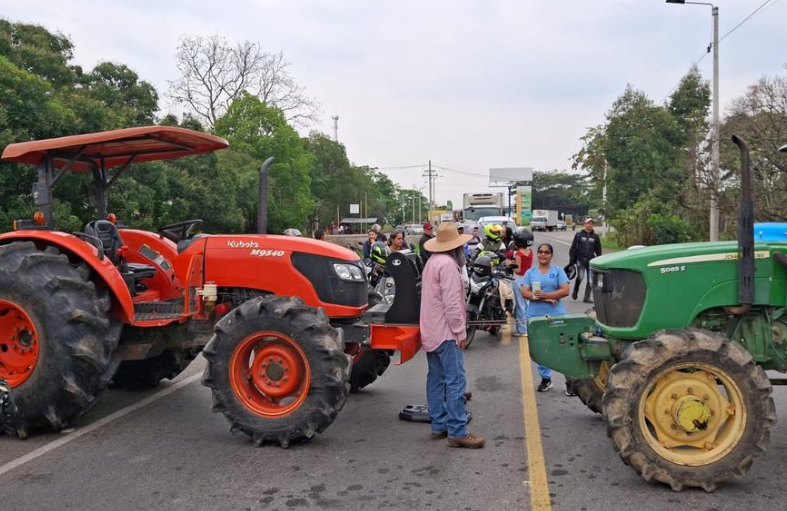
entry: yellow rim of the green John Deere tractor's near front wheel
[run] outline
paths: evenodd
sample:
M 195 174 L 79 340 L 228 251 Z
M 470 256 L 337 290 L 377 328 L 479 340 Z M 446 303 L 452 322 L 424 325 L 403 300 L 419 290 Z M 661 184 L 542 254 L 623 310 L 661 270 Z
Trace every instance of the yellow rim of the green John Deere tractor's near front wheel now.
M 662 458 L 690 467 L 714 463 L 746 431 L 746 404 L 722 369 L 703 363 L 673 366 L 658 374 L 639 403 L 639 426 Z

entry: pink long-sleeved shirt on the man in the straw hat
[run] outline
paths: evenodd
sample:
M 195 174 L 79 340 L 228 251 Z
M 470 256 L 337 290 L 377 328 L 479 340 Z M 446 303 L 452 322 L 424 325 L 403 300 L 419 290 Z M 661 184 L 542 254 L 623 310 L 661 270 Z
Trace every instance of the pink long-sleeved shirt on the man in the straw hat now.
M 426 262 L 421 279 L 421 347 L 434 351 L 443 342 L 464 340 L 465 285 L 454 260 L 435 253 Z

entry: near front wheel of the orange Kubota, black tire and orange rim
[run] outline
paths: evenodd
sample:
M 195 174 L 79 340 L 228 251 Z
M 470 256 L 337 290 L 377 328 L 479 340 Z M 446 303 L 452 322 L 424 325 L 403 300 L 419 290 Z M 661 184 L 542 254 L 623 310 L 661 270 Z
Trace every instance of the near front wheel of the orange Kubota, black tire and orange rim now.
M 322 433 L 350 391 L 350 357 L 341 330 L 299 298 L 249 300 L 218 322 L 203 350 L 202 383 L 231 432 L 255 446 L 282 447 Z M 264 371 L 263 371 L 264 369 Z M 285 395 L 274 395 L 292 387 Z

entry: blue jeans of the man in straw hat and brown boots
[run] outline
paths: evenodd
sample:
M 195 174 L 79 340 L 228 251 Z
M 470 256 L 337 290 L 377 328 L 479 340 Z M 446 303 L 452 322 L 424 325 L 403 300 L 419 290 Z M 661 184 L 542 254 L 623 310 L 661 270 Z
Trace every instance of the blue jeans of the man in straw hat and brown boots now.
M 432 433 L 448 430 L 451 438 L 467 435 L 465 411 L 465 355 L 456 341 L 445 341 L 426 353 L 426 403 L 432 419 Z

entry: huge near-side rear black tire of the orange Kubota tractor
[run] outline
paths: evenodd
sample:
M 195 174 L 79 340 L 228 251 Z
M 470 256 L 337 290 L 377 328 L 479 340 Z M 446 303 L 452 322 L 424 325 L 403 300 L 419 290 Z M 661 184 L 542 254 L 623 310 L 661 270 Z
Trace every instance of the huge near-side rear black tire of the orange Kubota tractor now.
M 38 350 L 32 372 L 12 391 L 13 429 L 21 438 L 41 427 L 66 427 L 98 402 L 118 367 L 122 325 L 110 318 L 109 292 L 96 289 L 89 276 L 87 265 L 71 263 L 54 247 L 0 246 L 0 300 L 6 314 L 15 304 L 11 311 L 27 315 L 35 332 L 25 334 L 26 349 Z M 6 377 L 4 354 L 22 346 L 8 337 L 0 339 L 0 376 Z

